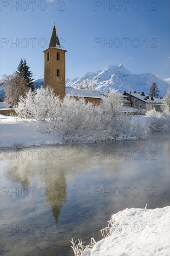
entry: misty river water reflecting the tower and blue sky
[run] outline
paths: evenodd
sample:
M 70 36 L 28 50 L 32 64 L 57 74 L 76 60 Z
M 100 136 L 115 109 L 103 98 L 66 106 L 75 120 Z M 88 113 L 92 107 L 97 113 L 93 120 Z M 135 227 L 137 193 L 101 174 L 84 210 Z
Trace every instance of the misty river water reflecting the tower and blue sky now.
M 2 150 L 0 254 L 70 256 L 70 240 L 100 240 L 111 214 L 169 205 L 169 141 L 155 133 L 142 141 Z

